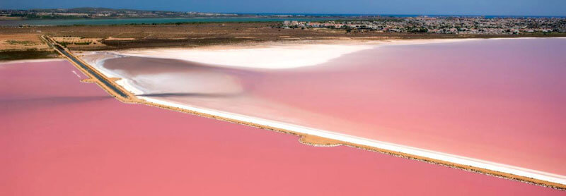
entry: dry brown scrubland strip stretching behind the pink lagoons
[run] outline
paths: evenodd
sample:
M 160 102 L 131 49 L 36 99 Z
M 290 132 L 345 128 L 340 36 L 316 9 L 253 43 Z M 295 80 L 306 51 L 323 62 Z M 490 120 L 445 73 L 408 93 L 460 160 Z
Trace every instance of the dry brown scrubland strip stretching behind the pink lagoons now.
M 76 25 L 0 27 L 2 35 L 48 35 L 74 50 L 151 47 L 200 47 L 217 44 L 301 40 L 449 39 L 488 37 L 562 37 L 566 34 L 446 35 L 396 32 L 349 32 L 330 29 L 282 29 L 279 23 L 187 23 L 182 25 Z M 40 33 L 38 33 L 40 32 Z M 30 37 L 33 38 L 33 37 Z M 33 38 L 37 40 L 36 38 Z M 91 44 L 86 44 L 91 42 Z M 79 43 L 79 44 L 76 44 Z M 96 43 L 96 44 L 94 44 Z

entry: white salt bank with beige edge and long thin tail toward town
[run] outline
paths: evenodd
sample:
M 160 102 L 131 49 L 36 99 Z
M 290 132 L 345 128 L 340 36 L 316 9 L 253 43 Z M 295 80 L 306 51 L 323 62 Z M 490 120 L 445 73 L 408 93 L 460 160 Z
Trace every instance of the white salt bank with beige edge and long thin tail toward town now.
M 141 49 L 117 51 L 116 53 L 127 56 L 179 59 L 218 66 L 281 69 L 316 66 L 345 54 L 383 45 L 433 44 L 472 40 L 477 39 L 392 39 L 386 41 L 335 39 L 213 46 L 196 49 Z

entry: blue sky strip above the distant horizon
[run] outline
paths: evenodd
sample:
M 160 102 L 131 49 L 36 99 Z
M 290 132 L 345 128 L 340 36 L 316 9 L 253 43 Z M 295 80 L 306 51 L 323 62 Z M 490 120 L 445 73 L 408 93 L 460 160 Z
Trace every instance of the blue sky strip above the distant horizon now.
M 566 0 L 0 0 L 0 8 L 134 8 L 222 13 L 566 16 Z

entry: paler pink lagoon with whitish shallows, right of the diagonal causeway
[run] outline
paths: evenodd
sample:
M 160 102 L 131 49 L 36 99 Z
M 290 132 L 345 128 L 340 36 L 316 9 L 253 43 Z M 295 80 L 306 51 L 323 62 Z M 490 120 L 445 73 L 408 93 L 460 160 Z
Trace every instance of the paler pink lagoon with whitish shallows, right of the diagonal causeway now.
M 566 39 L 483 39 L 275 71 L 142 57 L 104 68 L 168 102 L 566 175 L 565 53 Z

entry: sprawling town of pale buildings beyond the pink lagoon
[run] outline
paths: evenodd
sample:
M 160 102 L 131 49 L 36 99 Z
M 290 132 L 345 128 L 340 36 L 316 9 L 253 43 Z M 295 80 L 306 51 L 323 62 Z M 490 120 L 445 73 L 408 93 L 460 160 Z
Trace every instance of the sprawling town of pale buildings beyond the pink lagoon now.
M 566 18 L 407 17 L 325 22 L 284 21 L 283 28 L 331 28 L 347 31 L 428 32 L 445 34 L 521 34 L 566 32 Z

